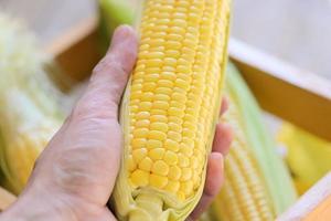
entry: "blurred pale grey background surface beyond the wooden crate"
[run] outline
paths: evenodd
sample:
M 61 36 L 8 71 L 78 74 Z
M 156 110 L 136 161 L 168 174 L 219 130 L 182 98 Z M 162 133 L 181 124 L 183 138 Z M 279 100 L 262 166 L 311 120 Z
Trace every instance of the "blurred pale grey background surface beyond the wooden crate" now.
M 233 0 L 232 34 L 299 67 L 331 78 L 330 0 Z M 43 44 L 96 10 L 95 0 L 0 0 Z

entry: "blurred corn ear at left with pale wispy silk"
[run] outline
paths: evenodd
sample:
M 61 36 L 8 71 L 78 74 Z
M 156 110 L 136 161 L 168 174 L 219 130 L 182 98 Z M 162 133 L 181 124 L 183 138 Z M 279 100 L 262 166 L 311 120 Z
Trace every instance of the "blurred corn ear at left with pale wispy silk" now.
M 33 36 L 0 15 L 0 165 L 3 183 L 20 193 L 34 161 L 64 118 L 58 91 Z M 56 95 L 57 94 L 57 95 Z

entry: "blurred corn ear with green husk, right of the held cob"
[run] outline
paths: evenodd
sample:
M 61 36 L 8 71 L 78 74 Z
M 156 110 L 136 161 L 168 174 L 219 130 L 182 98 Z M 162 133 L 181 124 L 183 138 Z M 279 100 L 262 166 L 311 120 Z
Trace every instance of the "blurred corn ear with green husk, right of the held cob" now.
M 296 199 L 289 172 L 233 65 L 228 65 L 226 94 L 231 106 L 223 120 L 234 128 L 235 139 L 225 161 L 225 183 L 203 220 L 275 220 Z

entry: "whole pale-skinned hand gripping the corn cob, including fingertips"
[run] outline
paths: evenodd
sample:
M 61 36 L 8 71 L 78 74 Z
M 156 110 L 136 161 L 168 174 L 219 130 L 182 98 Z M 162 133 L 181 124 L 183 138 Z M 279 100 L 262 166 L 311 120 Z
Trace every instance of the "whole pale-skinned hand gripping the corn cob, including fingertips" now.
M 94 69 L 89 85 L 38 159 L 18 201 L 0 215 L 15 221 L 113 221 L 107 208 L 122 151 L 118 106 L 137 59 L 137 36 L 127 25 Z M 222 110 L 227 103 L 223 102 Z M 232 131 L 216 127 L 203 196 L 188 220 L 196 220 L 220 191 Z

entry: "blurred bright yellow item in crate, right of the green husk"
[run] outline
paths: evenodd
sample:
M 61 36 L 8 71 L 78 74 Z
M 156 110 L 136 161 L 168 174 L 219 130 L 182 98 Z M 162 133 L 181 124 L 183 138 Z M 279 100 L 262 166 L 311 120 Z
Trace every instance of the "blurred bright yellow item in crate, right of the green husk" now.
M 331 143 L 286 123 L 278 131 L 296 188 L 305 193 L 331 171 Z

